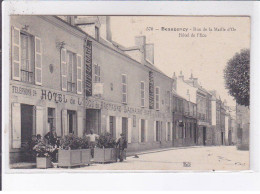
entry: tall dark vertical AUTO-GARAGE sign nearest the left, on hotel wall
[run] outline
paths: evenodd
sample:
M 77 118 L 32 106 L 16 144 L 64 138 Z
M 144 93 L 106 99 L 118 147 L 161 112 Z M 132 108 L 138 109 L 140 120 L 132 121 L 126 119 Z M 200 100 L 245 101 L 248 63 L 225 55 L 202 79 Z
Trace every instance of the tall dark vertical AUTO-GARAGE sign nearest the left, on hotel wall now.
M 86 41 L 86 96 L 92 96 L 92 41 Z

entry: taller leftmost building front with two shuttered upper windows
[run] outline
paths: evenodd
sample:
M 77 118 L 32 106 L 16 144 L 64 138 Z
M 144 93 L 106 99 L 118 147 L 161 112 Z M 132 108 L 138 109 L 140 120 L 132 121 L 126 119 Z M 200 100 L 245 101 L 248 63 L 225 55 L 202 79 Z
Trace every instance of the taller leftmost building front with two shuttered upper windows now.
M 12 163 L 32 135 L 83 135 L 85 35 L 52 16 L 11 16 L 11 32 Z

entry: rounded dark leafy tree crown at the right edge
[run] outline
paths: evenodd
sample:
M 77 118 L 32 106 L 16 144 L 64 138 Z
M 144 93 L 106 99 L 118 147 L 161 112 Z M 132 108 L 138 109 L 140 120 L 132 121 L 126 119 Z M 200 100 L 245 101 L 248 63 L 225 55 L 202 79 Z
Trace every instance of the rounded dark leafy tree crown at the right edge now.
M 242 49 L 231 58 L 224 69 L 225 87 L 240 105 L 250 102 L 250 50 Z

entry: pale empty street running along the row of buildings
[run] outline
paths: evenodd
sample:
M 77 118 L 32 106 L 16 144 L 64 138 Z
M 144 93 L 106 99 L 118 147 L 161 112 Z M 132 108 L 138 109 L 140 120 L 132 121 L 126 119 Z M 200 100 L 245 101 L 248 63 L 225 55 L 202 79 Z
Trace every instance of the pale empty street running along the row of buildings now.
M 184 164 L 185 162 L 185 164 Z M 91 164 L 80 170 L 247 170 L 249 151 L 235 146 L 193 147 L 127 157 L 122 163 Z

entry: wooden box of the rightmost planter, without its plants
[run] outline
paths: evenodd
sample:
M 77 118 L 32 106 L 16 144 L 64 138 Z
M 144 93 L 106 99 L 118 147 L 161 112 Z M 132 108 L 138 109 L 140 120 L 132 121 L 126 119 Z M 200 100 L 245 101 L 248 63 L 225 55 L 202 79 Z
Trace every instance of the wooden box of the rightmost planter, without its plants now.
M 117 162 L 117 149 L 116 148 L 95 148 L 94 161 L 100 163 Z

